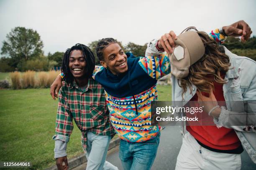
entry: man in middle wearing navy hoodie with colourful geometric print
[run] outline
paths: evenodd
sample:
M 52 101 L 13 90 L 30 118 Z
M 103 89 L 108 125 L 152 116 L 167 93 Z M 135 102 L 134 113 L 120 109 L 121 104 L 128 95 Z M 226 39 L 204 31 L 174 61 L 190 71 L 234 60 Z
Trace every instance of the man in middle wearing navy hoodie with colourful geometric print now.
M 241 29 L 248 29 L 248 25 L 241 24 Z M 226 28 L 234 33 L 238 25 Z M 224 36 L 218 31 L 213 31 L 210 36 L 221 42 Z M 160 43 L 167 42 L 170 45 L 166 51 L 171 53 L 174 47 L 172 39 L 161 40 Z M 154 48 L 159 47 L 154 45 Z M 160 126 L 151 125 L 151 101 L 157 100 L 157 80 L 170 73 L 169 58 L 164 55 L 135 57 L 131 53 L 125 54 L 113 38 L 98 42 L 96 52 L 102 67 L 96 67 L 92 77 L 105 89 L 110 121 L 121 138 L 119 157 L 123 168 L 149 170 L 156 157 L 161 130 Z M 61 78 L 57 77 L 52 84 L 53 98 L 60 82 Z

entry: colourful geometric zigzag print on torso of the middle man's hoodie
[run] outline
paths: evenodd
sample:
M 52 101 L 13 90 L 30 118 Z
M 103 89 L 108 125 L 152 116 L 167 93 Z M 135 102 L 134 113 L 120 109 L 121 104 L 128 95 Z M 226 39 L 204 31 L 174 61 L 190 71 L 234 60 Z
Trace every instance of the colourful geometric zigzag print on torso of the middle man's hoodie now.
M 161 130 L 160 126 L 151 126 L 151 101 L 157 99 L 156 85 L 132 96 L 113 97 L 105 91 L 110 112 L 110 121 L 117 135 L 128 142 L 143 142 L 154 138 Z

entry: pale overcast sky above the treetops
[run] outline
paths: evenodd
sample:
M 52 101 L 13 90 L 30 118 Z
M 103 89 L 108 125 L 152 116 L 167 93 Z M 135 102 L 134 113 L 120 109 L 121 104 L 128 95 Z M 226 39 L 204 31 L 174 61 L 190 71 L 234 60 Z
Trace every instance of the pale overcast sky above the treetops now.
M 0 0 L 0 48 L 12 28 L 36 30 L 44 53 L 113 37 L 143 45 L 195 26 L 209 32 L 245 20 L 256 35 L 256 0 Z

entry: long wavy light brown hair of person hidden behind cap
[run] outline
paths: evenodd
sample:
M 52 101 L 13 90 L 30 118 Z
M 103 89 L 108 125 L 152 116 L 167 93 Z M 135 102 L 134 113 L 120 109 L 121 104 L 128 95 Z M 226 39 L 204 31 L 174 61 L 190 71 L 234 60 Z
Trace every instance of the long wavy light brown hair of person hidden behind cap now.
M 211 88 L 214 90 L 213 82 L 224 84 L 225 80 L 221 74 L 225 74 L 230 67 L 230 59 L 225 55 L 223 47 L 211 40 L 206 32 L 198 31 L 197 33 L 205 45 L 205 54 L 189 67 L 187 77 L 178 79 L 179 86 L 182 88 L 182 98 L 187 92 L 187 87 L 192 93 L 192 84 L 199 92 L 206 93 L 210 93 Z

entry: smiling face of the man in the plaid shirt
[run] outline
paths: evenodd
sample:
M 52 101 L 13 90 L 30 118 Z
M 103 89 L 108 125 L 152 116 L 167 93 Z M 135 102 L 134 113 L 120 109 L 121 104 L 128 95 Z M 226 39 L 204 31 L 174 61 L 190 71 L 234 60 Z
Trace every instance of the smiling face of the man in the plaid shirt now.
M 69 70 L 75 79 L 84 77 L 86 62 L 81 50 L 73 50 L 69 57 Z

